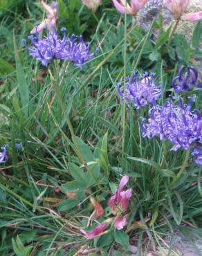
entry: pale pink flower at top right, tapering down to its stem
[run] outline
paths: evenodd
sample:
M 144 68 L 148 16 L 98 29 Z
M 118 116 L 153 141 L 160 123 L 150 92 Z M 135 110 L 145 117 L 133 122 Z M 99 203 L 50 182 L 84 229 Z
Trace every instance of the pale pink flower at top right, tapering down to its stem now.
M 166 6 L 176 19 L 180 18 L 185 12 L 190 0 L 166 0 Z

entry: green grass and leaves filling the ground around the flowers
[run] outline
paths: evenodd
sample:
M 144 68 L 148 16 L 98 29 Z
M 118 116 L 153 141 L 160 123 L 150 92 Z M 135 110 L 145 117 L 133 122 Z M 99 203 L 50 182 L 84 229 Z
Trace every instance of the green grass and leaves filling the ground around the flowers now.
M 68 2 L 64 1 L 65 6 Z M 136 237 L 140 255 L 142 244 L 145 250 L 147 245 L 162 245 L 163 236 L 178 226 L 183 230 L 184 223 L 201 232 L 201 168 L 190 158 L 185 172 L 171 186 L 185 152 L 169 152 L 168 143 L 142 138 L 140 111 L 127 109 L 116 90 L 116 82 L 134 68 L 140 73 L 149 69 L 156 72 L 164 91 L 161 104 L 166 92 L 170 93 L 177 67 L 191 64 L 192 59 L 171 60 L 161 53 L 162 59 L 148 60 L 153 51 L 163 51 L 167 40 L 159 39 L 162 43 L 154 50 L 155 43 L 149 40 L 152 30 L 144 33 L 131 27 L 130 17 L 125 25 L 126 17 L 122 17 L 117 27 L 119 15 L 107 1 L 95 13 L 100 23 L 88 30 L 88 19 L 94 19 L 91 12 L 79 1 L 75 6 L 70 2 L 72 9 L 60 14 L 59 28 L 68 15 L 80 10 L 76 19 L 86 26 L 75 28 L 71 21 L 68 31 L 84 33 L 94 49 L 100 46 L 98 56 L 83 69 L 55 62 L 56 72 L 53 66 L 42 68 L 28 56 L 21 39 L 42 19 L 33 3 L 23 6 L 17 1 L 1 19 L 1 58 L 6 67 L 0 68 L 0 143 L 9 145 L 9 161 L 1 164 L 0 172 L 0 254 L 75 255 L 81 246 L 86 248 L 80 228 L 86 228 L 93 212 L 89 196 L 105 209 L 98 221 L 107 219 L 107 201 L 123 174 L 130 176 L 128 187 L 133 189 L 127 235 Z M 200 102 L 199 91 L 199 109 Z M 15 143 L 22 143 L 22 149 L 17 151 Z M 75 199 L 70 198 L 72 190 Z M 116 242 L 122 244 L 118 250 L 127 247 L 112 228 L 88 245 L 110 255 Z

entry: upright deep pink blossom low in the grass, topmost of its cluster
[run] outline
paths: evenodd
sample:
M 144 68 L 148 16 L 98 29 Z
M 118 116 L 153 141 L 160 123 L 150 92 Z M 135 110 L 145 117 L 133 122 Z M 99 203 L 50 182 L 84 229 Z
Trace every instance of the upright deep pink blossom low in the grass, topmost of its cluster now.
M 123 189 L 125 188 L 125 185 L 128 183 L 128 181 L 129 176 L 123 176 L 118 186 L 118 190 L 116 191 L 116 194 L 111 196 L 111 199 L 109 199 L 108 205 L 114 212 L 116 211 L 115 205 L 118 205 L 118 207 L 122 208 L 122 210 L 127 211 L 129 199 L 132 195 L 132 190 L 131 188 L 125 191 Z

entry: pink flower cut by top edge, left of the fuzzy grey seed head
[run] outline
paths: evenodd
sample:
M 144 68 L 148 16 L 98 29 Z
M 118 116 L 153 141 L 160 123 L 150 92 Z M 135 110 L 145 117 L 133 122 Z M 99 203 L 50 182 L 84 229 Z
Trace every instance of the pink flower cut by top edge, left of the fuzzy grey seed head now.
M 138 10 L 143 8 L 145 3 L 148 0 L 130 0 L 130 3 L 127 3 L 125 6 L 125 1 L 127 0 L 112 0 L 114 6 L 120 13 L 127 13 L 128 15 L 136 15 Z

